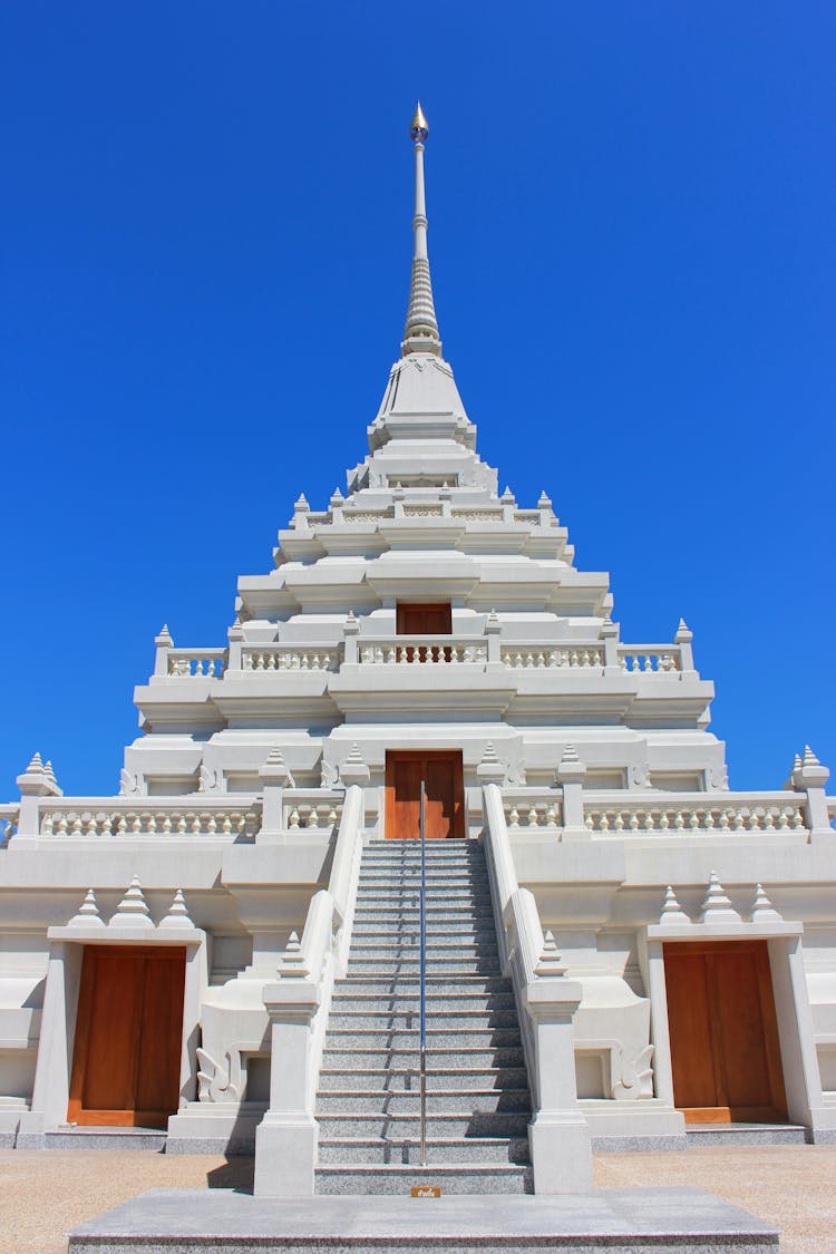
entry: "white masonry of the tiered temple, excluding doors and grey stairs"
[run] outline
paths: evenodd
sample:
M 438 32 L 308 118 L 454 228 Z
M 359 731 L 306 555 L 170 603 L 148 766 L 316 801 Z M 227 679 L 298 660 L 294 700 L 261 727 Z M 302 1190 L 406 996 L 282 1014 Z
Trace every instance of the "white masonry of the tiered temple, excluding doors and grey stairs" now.
M 836 1140 L 828 771 L 806 749 L 783 788 L 729 791 L 686 623 L 623 642 L 545 493 L 499 494 L 441 356 L 416 139 L 402 351 L 345 495 L 298 497 L 226 645 L 155 637 L 118 795 L 64 796 L 35 754 L 0 806 L 3 1145 L 66 1121 L 84 947 L 184 946 L 168 1151 L 254 1140 L 258 1193 L 310 1194 L 361 851 L 385 835 L 386 752 L 417 749 L 462 754 L 536 1191 L 585 1188 L 590 1137 L 683 1136 L 666 942 L 768 942 L 788 1117 Z M 399 635 L 399 602 L 449 603 L 451 635 Z

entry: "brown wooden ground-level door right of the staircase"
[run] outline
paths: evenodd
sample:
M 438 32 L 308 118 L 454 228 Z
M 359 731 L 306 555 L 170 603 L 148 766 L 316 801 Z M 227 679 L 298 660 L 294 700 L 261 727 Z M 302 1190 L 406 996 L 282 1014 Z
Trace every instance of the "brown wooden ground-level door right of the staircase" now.
M 787 1117 L 766 940 L 664 946 L 673 1100 L 687 1122 Z

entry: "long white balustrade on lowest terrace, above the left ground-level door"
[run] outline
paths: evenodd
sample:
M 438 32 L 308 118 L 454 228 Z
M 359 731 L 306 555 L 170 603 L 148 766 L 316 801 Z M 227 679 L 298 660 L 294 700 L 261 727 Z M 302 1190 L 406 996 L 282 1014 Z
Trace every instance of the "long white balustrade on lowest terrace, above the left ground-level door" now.
M 41 836 L 216 836 L 251 840 L 261 825 L 261 806 L 253 796 L 170 798 L 44 798 Z

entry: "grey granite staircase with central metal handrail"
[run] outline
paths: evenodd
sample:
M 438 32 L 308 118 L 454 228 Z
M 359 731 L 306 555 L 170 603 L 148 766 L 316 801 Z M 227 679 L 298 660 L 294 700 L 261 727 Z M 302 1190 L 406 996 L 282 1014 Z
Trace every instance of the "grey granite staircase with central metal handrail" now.
M 420 1166 L 420 845 L 363 850 L 316 1117 L 318 1194 L 530 1193 L 528 1073 L 473 840 L 426 846 L 426 1161 Z

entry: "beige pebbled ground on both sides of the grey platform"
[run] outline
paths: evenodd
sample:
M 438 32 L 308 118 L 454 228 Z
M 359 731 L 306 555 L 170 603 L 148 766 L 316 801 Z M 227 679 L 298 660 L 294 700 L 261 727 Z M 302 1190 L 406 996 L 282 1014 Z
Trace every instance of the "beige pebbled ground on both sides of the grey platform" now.
M 147 1189 L 247 1188 L 252 1159 L 0 1150 L 0 1254 L 65 1254 L 66 1233 Z M 836 1146 L 599 1154 L 604 1188 L 699 1185 L 782 1229 L 783 1254 L 836 1254 Z

